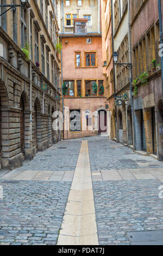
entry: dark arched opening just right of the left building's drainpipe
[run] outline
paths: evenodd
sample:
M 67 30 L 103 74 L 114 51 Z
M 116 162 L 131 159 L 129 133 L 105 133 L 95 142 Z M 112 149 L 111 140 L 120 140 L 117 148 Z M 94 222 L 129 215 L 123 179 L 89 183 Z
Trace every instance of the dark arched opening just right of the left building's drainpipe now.
M 35 151 L 39 150 L 38 143 L 41 138 L 41 104 L 40 100 L 36 98 L 34 105 L 34 147 Z

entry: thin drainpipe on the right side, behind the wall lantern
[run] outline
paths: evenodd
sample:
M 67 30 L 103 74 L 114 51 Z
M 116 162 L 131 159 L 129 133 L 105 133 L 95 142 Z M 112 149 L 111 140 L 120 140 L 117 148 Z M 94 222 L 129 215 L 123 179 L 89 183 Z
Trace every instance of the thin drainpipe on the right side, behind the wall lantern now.
M 112 36 L 112 54 L 114 53 L 114 31 L 113 31 L 113 13 L 112 13 L 112 0 L 111 0 L 111 36 Z M 115 79 L 115 65 L 113 64 L 113 78 L 114 78 L 114 95 L 116 94 L 116 79 Z M 115 106 L 115 125 L 116 125 L 116 142 L 118 143 L 117 132 L 117 106 Z

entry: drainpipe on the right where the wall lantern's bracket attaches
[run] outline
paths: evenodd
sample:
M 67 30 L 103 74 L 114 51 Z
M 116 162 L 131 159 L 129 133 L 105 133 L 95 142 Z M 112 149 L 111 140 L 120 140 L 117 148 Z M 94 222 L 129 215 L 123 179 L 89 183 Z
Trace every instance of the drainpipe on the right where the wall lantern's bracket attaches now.
M 128 0 L 128 45 L 129 45 L 129 63 L 132 63 L 131 59 L 131 32 L 130 32 L 130 0 Z M 132 90 L 132 83 L 133 83 L 133 74 L 132 70 L 129 70 L 129 78 L 130 78 L 130 99 L 131 99 L 131 114 L 133 119 L 133 147 L 134 151 L 136 150 L 136 129 L 135 129 L 135 113 L 134 113 L 134 105 L 133 105 L 133 90 Z

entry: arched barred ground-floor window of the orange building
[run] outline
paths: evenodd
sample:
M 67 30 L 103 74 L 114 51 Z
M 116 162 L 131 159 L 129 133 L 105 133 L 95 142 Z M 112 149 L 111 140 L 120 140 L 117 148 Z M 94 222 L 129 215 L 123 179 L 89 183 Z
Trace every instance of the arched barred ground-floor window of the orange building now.
M 80 109 L 70 110 L 70 131 L 81 131 Z

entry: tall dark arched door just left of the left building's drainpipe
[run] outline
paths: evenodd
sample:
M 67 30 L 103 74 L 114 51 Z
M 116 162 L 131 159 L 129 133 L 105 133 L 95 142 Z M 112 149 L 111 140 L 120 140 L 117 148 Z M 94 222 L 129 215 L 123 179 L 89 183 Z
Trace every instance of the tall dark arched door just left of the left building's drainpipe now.
M 21 97 L 20 100 L 20 139 L 21 139 L 21 153 L 24 155 L 24 103 Z

